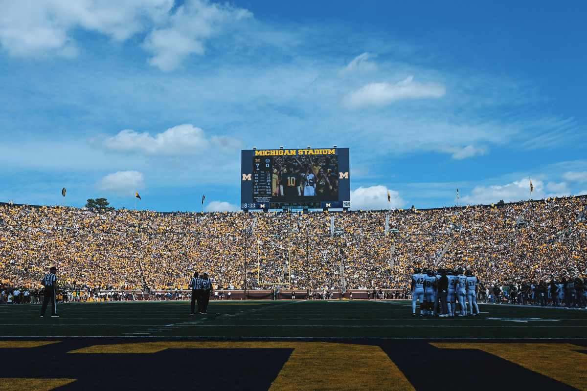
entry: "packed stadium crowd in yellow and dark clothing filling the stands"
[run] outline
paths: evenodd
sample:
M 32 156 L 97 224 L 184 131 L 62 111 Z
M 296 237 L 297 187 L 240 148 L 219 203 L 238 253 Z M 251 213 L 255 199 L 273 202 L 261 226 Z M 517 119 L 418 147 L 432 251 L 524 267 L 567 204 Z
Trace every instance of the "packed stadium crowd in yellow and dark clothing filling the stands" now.
M 186 289 L 194 270 L 231 289 L 244 287 L 246 270 L 249 290 L 405 289 L 414 267 L 469 268 L 488 288 L 538 286 L 587 274 L 585 215 L 586 196 L 334 213 L 0 204 L 0 291 L 4 301 L 15 289 L 34 301 L 50 266 L 66 290 L 88 297 Z

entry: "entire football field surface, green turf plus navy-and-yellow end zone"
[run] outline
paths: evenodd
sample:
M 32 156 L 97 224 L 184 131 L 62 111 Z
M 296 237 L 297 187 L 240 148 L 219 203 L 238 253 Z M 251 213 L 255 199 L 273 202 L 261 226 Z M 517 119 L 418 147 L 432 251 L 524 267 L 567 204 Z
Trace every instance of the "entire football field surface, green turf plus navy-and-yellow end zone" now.
M 2 390 L 587 390 L 587 310 L 411 301 L 97 302 L 0 306 Z M 220 312 L 220 315 L 216 315 Z M 50 311 L 49 311 L 50 313 Z M 448 374 L 448 375 L 443 375 Z

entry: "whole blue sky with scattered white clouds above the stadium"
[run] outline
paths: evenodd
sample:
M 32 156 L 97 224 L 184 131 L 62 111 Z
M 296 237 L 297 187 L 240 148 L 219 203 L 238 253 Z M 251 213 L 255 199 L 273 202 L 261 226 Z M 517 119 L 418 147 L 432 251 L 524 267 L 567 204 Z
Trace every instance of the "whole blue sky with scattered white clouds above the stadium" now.
M 352 209 L 587 193 L 587 3 L 0 0 L 0 201 L 238 210 L 350 148 Z

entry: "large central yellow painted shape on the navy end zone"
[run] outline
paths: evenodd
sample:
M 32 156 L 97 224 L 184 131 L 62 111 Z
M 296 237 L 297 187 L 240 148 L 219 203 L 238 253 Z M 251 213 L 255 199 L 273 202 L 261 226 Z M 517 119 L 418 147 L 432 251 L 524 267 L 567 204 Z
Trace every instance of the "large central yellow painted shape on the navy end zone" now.
M 329 342 L 143 342 L 94 345 L 69 353 L 156 353 L 165 349 L 294 349 L 270 390 L 414 391 L 379 346 Z M 329 365 L 316 365 L 326 362 Z M 360 363 L 361 365 L 357 365 Z M 367 363 L 367 365 L 364 365 Z

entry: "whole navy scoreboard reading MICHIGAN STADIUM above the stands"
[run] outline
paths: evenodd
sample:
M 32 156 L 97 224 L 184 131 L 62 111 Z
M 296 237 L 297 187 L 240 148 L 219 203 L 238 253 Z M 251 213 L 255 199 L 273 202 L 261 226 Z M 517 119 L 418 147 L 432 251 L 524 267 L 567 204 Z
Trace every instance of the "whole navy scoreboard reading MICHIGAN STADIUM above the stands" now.
M 241 209 L 347 209 L 349 180 L 349 148 L 241 151 Z

